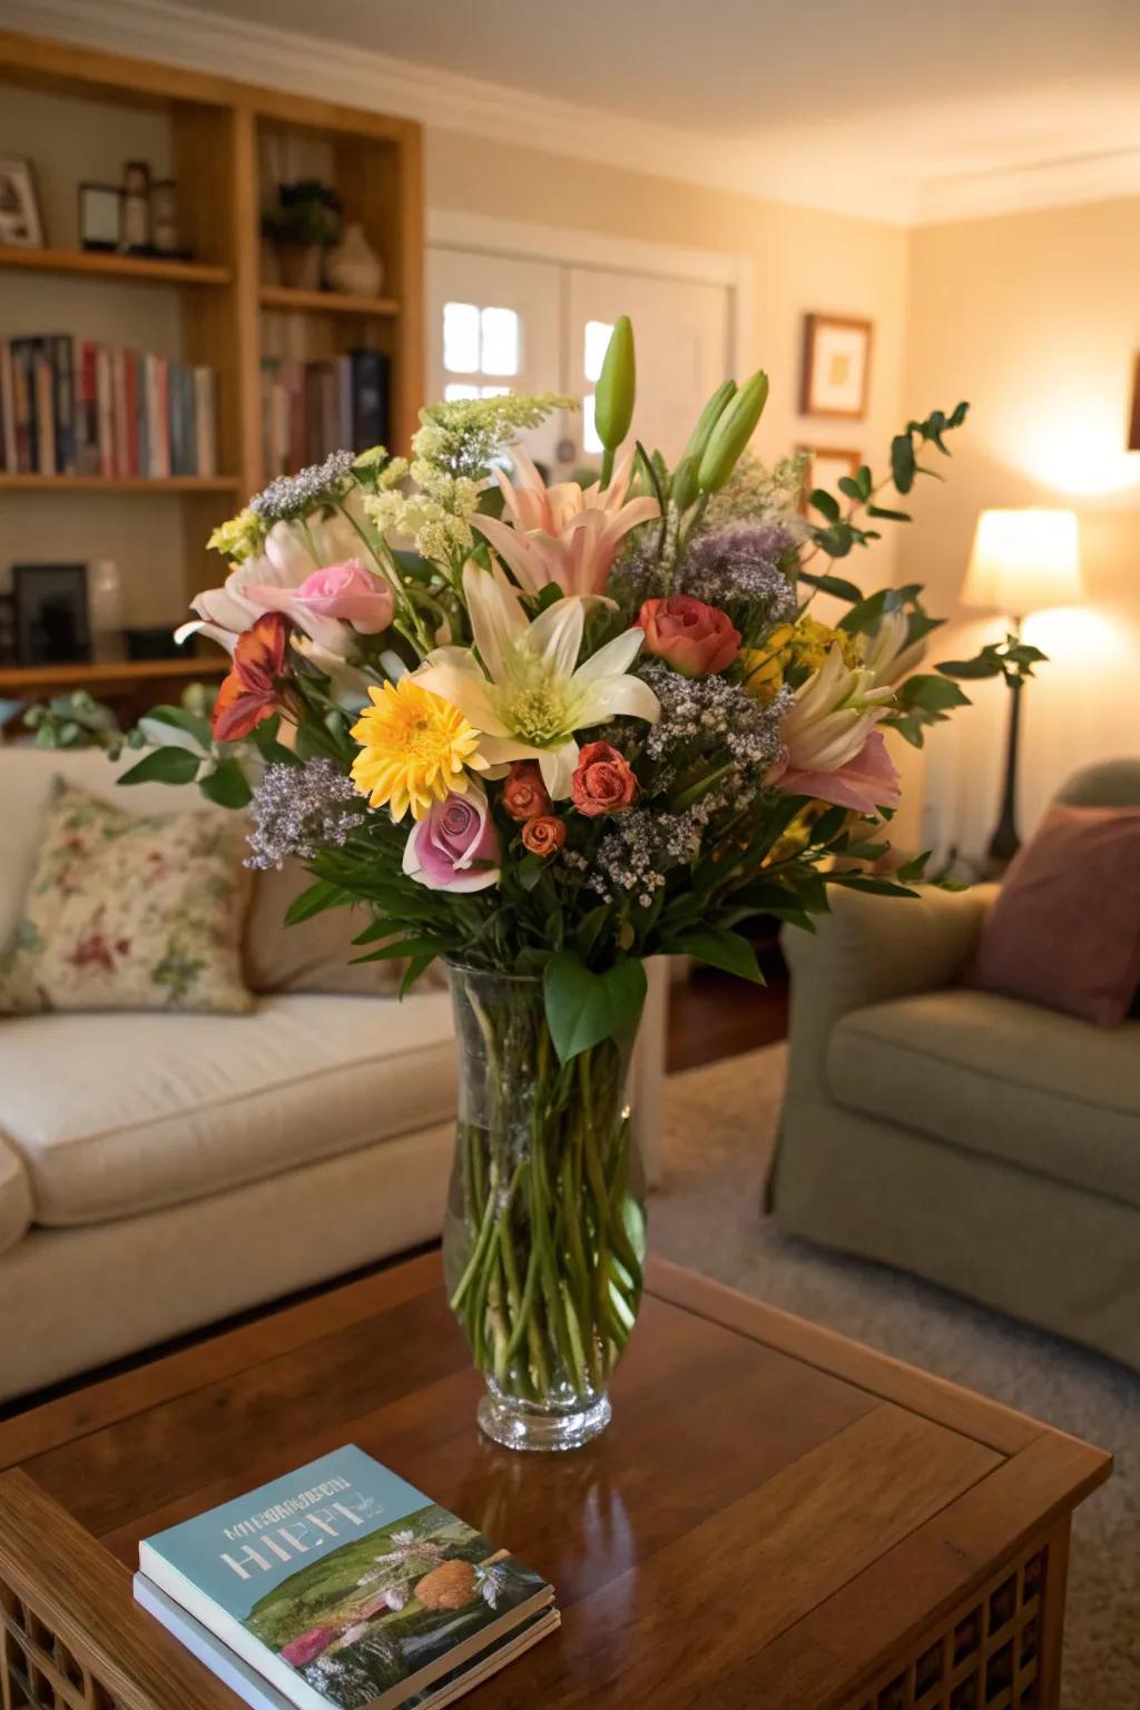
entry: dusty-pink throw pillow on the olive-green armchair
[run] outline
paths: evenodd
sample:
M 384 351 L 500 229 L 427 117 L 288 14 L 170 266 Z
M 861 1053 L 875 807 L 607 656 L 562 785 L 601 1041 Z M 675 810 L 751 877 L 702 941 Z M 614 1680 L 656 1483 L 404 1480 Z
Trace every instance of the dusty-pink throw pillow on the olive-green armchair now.
M 1140 807 L 1056 804 L 1012 862 L 973 983 L 1118 1028 L 1140 983 Z

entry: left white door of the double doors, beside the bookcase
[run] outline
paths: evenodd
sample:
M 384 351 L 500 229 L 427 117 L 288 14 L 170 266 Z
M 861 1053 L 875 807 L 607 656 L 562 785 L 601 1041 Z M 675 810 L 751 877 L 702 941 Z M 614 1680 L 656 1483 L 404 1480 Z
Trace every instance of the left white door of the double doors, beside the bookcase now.
M 427 251 L 427 397 L 562 392 L 562 274 L 468 250 Z M 523 436 L 532 457 L 555 460 L 561 416 Z

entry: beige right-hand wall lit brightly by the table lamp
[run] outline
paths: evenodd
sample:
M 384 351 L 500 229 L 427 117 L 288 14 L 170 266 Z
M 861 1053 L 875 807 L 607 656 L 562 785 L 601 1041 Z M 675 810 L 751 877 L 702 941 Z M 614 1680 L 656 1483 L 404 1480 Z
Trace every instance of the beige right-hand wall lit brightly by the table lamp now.
M 1077 766 L 1140 752 L 1140 455 L 1125 451 L 1140 347 L 1140 200 L 1049 209 L 911 233 L 908 410 L 971 400 L 950 479 L 921 494 L 899 571 L 949 610 L 984 506 L 1080 516 L 1087 604 L 1031 619 L 1051 655 L 1025 701 L 1022 831 Z M 966 614 L 964 614 L 966 616 Z M 969 614 L 952 657 L 993 624 Z M 973 648 L 971 648 L 973 650 Z M 984 845 L 995 816 L 1005 694 L 935 732 L 926 838 Z

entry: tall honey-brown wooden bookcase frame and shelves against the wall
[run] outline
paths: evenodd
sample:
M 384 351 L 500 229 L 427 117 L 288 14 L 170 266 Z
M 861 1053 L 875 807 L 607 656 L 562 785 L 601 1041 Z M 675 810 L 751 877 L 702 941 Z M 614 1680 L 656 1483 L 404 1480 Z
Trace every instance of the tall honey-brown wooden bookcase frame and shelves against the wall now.
M 0 31 L 0 99 L 5 86 L 84 101 L 91 106 L 92 127 L 99 125 L 99 106 L 161 115 L 169 133 L 171 176 L 178 181 L 179 238 L 193 260 L 85 251 L 73 243 L 68 248 L 58 241 L 65 234 L 50 224 L 48 236 L 56 238 L 50 248 L 0 246 L 0 279 L 12 289 L 14 280 L 26 275 L 29 291 L 36 289 L 38 274 L 65 280 L 65 286 L 53 289 L 73 289 L 72 323 L 62 321 L 55 308 L 58 299 L 53 299 L 53 325 L 36 330 L 67 330 L 77 337 L 89 337 L 84 328 L 84 301 L 92 299 L 84 298 L 85 291 L 101 287 L 103 301 L 108 287 L 120 284 L 173 292 L 179 349 L 166 354 L 191 366 L 209 364 L 217 371 L 217 458 L 227 474 L 161 481 L 0 474 L 0 503 L 17 506 L 31 504 L 31 496 L 58 496 L 62 506 L 80 506 L 84 496 L 99 494 L 111 494 L 123 504 L 133 504 L 137 498 L 162 498 L 171 506 L 169 532 L 181 545 L 188 597 L 219 580 L 222 564 L 215 554 L 205 552 L 210 530 L 263 486 L 261 354 L 268 354 L 270 340 L 280 337 L 280 328 L 292 328 L 289 337 L 299 342 L 294 347 L 306 359 L 362 344 L 385 351 L 391 363 L 393 446 L 405 450 L 415 431 L 424 402 L 420 127 L 383 113 L 12 31 Z M 261 161 L 270 140 L 323 150 L 330 180 L 344 203 L 344 217 L 359 221 L 369 243 L 383 256 L 385 284 L 391 296 L 291 291 L 263 275 Z M 38 137 L 31 132 L 27 152 L 32 159 L 36 142 Z M 161 298 L 154 301 L 156 306 L 162 303 Z M 121 342 L 132 340 L 125 337 Z M 101 516 L 103 510 L 92 508 L 87 528 L 91 540 L 84 552 L 92 559 L 103 551 L 118 557 L 115 545 L 101 545 Z M 111 523 L 106 527 L 111 528 Z M 44 537 L 39 513 L 36 528 L 39 540 Z M 46 535 L 38 557 L 63 551 L 50 542 L 50 518 Z M 113 542 L 115 535 L 109 539 Z M 9 551 L 5 556 L 10 559 L 14 554 Z M 142 576 L 147 569 L 147 563 L 135 566 L 121 559 L 126 587 L 132 575 Z M 68 679 L 72 686 L 103 681 L 96 667 L 67 669 L 77 672 L 75 679 Z M 179 669 L 188 675 L 195 670 L 209 674 L 202 660 L 128 662 L 116 667 L 115 681 L 176 677 Z M 43 687 L 43 672 L 34 681 Z M 27 691 L 31 679 L 19 672 L 0 672 L 0 686 L 24 686 Z

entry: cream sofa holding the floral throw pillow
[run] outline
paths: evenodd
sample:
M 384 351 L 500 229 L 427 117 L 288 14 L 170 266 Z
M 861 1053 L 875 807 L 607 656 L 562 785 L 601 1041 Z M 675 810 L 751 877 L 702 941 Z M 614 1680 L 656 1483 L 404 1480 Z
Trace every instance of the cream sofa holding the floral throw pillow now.
M 99 754 L 0 747 L 0 942 L 55 773 L 115 792 Z M 651 1175 L 665 990 L 651 970 L 634 1067 Z M 0 1017 L 0 1400 L 434 1240 L 455 1077 L 446 990 Z

